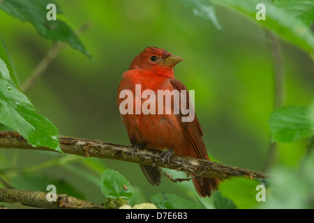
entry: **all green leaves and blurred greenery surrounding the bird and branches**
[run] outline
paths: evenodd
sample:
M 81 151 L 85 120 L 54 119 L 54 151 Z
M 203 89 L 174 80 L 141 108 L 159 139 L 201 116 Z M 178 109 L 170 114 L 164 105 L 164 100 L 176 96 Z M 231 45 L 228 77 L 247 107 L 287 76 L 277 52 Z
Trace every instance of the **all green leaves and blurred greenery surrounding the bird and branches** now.
M 107 197 L 120 193 L 106 187 L 111 184 L 103 171 L 113 169 L 111 174 L 120 174 L 113 174 L 112 182 L 127 185 L 122 192 L 131 196 L 130 205 L 313 208 L 314 1 L 59 0 L 49 1 L 57 3 L 52 23 L 45 20 L 47 2 L 0 1 L 0 130 L 16 130 L 34 146 L 57 150 L 58 131 L 129 144 L 116 104 L 121 74 L 144 47 L 162 47 L 184 58 L 175 75 L 195 89 L 212 160 L 263 171 L 271 138 L 278 142 L 270 170 L 276 177 L 266 182 L 267 202 L 257 203 L 254 185 L 261 182 L 248 179 L 226 180 L 211 199 L 200 199 L 192 183 L 163 179 L 160 187 L 151 186 L 137 164 L 0 149 L 0 178 L 6 183 L 41 191 L 54 184 L 60 194 L 103 203 L 102 192 Z M 267 20 L 258 22 L 255 6 L 261 2 Z M 87 23 L 78 38 L 73 30 Z M 281 38 L 285 105 L 290 105 L 275 112 L 274 63 L 265 27 Z M 20 85 L 50 50 L 50 40 L 77 50 L 59 52 L 25 96 Z M 6 187 L 2 181 L 0 187 Z

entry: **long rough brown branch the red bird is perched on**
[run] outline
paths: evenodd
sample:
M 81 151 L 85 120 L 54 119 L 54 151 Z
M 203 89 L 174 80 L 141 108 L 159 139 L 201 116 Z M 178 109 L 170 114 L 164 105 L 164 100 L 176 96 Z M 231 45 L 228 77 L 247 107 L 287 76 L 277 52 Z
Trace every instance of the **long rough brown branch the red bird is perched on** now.
M 98 157 L 114 160 L 123 160 L 126 162 L 135 162 L 138 164 L 149 165 L 153 167 L 164 167 L 184 171 L 188 174 L 204 176 L 207 178 L 230 178 L 232 176 L 245 176 L 248 178 L 267 178 L 267 174 L 232 167 L 209 160 L 201 160 L 183 155 L 172 155 L 170 162 L 163 165 L 162 151 L 142 148 L 135 151 L 132 155 L 130 146 L 112 144 L 105 141 L 79 139 L 74 137 L 59 137 L 61 150 L 63 153 L 80 155 L 84 157 Z M 53 151 L 50 148 L 37 147 L 29 145 L 23 137 L 17 132 L 0 132 L 0 148 L 20 148 L 40 151 Z

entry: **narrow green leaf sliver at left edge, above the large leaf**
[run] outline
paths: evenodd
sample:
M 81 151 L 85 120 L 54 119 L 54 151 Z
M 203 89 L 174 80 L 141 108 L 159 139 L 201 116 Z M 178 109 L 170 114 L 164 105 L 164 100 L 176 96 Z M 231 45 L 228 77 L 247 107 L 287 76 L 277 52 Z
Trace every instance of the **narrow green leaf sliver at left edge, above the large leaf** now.
M 12 79 L 17 89 L 20 90 L 20 86 L 17 84 L 17 79 L 14 75 L 13 69 L 10 64 L 10 60 L 8 59 L 8 55 L 6 54 L 6 50 L 3 48 L 0 41 L 0 78 L 9 82 Z

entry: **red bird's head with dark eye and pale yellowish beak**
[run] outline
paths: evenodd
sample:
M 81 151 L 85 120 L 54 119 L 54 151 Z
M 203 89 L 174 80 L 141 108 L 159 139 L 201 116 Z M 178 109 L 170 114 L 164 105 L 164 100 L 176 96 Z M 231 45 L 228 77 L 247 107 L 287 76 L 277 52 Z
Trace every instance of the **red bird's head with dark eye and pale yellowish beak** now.
M 149 70 L 156 75 L 174 77 L 173 68 L 183 59 L 157 47 L 147 47 L 135 56 L 129 70 Z

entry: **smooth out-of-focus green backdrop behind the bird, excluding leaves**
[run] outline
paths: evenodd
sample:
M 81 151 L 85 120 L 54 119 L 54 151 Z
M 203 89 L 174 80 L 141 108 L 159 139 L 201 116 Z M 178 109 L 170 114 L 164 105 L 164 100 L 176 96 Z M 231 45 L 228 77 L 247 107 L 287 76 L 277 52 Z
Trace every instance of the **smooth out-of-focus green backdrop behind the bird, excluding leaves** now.
M 73 29 L 90 24 L 80 38 L 93 57 L 91 61 L 67 47 L 26 93 L 40 114 L 59 128 L 61 135 L 130 144 L 119 116 L 117 87 L 122 73 L 144 47 L 160 47 L 184 58 L 176 66 L 175 76 L 188 89 L 195 90 L 195 109 L 209 157 L 262 171 L 269 148 L 267 121 L 274 109 L 274 75 L 271 52 L 257 22 L 216 6 L 223 27 L 220 32 L 176 0 L 57 2 L 64 12 L 57 19 Z M 3 11 L 0 11 L 0 27 L 1 40 L 22 84 L 52 43 L 38 36 L 31 24 Z M 286 75 L 285 104 L 306 107 L 314 98 L 313 61 L 297 47 L 285 42 L 281 45 Z M 307 143 L 301 140 L 280 144 L 276 162 L 296 167 Z M 100 187 L 79 173 L 63 168 L 62 164 L 40 167 L 43 162 L 64 159 L 62 155 L 0 149 L 0 156 L 13 169 L 37 165 L 38 171 L 32 173 L 63 179 L 89 201 L 103 202 Z M 87 160 L 94 160 L 94 166 L 100 169 L 109 167 L 119 171 L 144 192 L 147 201 L 159 192 L 186 197 L 184 190 L 178 190 L 178 184 L 166 178 L 160 187 L 150 185 L 137 164 L 80 158 L 75 162 L 77 171 L 89 171 L 79 164 Z

